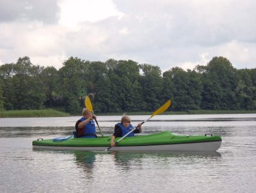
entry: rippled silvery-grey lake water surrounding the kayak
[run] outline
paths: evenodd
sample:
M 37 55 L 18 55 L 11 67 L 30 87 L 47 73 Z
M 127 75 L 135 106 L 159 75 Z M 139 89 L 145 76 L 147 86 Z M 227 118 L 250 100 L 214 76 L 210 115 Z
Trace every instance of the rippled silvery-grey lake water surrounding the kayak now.
M 37 138 L 72 134 L 78 118 L 0 118 L 0 192 L 256 192 L 256 114 L 157 115 L 143 125 L 143 134 L 222 136 L 208 154 L 32 149 Z M 103 133 L 120 118 L 98 116 Z

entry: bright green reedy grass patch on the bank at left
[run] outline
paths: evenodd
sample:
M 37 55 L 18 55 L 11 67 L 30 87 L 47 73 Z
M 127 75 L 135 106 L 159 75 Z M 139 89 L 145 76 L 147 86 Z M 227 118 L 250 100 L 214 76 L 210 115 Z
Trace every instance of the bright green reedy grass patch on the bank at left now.
M 0 111 L 0 118 L 14 117 L 59 117 L 70 116 L 69 113 L 63 113 L 54 109 L 41 110 L 19 110 L 19 111 Z

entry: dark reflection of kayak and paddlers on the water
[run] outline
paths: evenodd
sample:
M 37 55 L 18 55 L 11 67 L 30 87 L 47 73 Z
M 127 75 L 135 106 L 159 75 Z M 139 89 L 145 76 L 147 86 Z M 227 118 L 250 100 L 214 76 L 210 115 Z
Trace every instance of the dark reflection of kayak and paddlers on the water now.
M 101 152 L 101 151 L 58 151 L 33 149 L 44 156 L 52 154 L 74 155 L 74 163 L 82 169 L 86 178 L 92 178 L 94 167 L 104 165 L 109 169 L 115 167 L 120 170 L 144 169 L 145 165 L 191 164 L 220 158 L 219 152 Z M 184 162 L 185 161 L 185 162 Z

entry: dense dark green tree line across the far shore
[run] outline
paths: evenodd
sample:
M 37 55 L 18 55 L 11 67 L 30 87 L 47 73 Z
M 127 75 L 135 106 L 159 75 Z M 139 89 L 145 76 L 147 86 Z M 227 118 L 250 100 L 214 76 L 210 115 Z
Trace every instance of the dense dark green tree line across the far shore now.
M 213 57 L 193 70 L 133 60 L 106 62 L 70 57 L 60 69 L 34 65 L 29 57 L 0 66 L 0 109 L 53 107 L 81 113 L 89 95 L 97 113 L 155 111 L 171 98 L 169 111 L 255 110 L 256 68 L 235 69 Z

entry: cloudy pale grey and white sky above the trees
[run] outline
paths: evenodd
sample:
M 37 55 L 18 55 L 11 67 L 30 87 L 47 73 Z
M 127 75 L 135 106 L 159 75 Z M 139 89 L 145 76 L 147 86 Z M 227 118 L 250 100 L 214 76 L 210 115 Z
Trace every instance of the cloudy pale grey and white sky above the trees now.
M 256 68 L 256 0 L 1 0 L 0 65 L 69 57 L 193 69 L 226 57 Z

